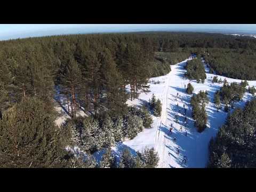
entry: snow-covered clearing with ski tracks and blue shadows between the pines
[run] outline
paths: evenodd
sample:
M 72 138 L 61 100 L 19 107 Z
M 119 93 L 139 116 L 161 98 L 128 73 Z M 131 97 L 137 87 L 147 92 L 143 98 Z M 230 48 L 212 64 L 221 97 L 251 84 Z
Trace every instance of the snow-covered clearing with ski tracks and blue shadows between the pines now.
M 197 58 L 198 59 L 198 58 Z M 188 60 L 188 59 L 187 59 Z M 153 127 L 151 129 L 144 129 L 137 137 L 132 140 L 124 142 L 118 142 L 113 150 L 116 154 L 120 154 L 121 151 L 127 147 L 134 154 L 135 151 L 143 151 L 143 149 L 154 147 L 159 156 L 158 167 L 205 167 L 208 161 L 208 145 L 212 137 L 218 132 L 219 127 L 225 123 L 227 113 L 223 110 L 217 112 L 217 108 L 213 103 L 214 93 L 219 90 L 223 84 L 212 83 L 212 77 L 214 74 L 209 74 L 209 69 L 205 65 L 206 76 L 204 84 L 196 83 L 196 81 L 189 81 L 183 79 L 183 73 L 186 71 L 183 69 L 186 61 L 177 63 L 177 65 L 171 66 L 171 72 L 165 76 L 151 78 L 150 81 L 160 81 L 160 84 L 150 84 L 150 92 L 141 93 L 138 99 L 133 101 L 128 100 L 129 105 L 141 106 L 144 102 L 147 102 L 154 93 L 156 98 L 161 99 L 162 102 L 162 115 L 161 117 L 154 117 Z M 203 61 L 204 62 L 204 61 Z M 218 78 L 225 79 L 223 76 Z M 228 83 L 238 82 L 239 79 L 226 78 Z M 194 120 L 191 118 L 190 97 L 185 90 L 185 85 L 191 83 L 194 87 L 193 93 L 198 93 L 200 90 L 207 90 L 209 93 L 210 102 L 206 106 L 206 113 L 208 116 L 207 128 L 198 133 L 196 127 L 194 127 Z M 248 81 L 249 86 L 256 86 L 256 81 Z M 175 101 L 175 96 L 179 93 L 181 99 Z M 247 100 L 250 100 L 252 95 L 245 93 L 243 101 L 237 102 L 235 107 L 243 107 Z M 180 113 L 177 109 L 177 103 L 181 109 Z M 183 104 L 185 104 L 188 116 L 187 136 L 185 135 L 185 128 L 180 130 L 181 124 L 183 125 Z M 223 109 L 223 106 L 222 106 Z M 174 122 L 175 114 L 178 115 L 179 122 Z M 170 125 L 173 123 L 174 129 L 170 134 Z M 173 139 L 177 140 L 174 142 Z M 180 153 L 177 153 L 179 148 Z M 95 156 L 98 156 L 96 153 Z M 186 159 L 186 163 L 182 160 Z

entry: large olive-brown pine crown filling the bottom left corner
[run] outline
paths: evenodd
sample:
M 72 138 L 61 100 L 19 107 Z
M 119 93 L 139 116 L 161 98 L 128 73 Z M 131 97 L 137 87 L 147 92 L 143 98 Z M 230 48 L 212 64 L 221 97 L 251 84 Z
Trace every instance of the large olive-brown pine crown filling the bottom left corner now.
M 2 167 L 61 167 L 65 151 L 62 135 L 36 98 L 23 98 L 5 111 L 0 120 L 0 164 Z

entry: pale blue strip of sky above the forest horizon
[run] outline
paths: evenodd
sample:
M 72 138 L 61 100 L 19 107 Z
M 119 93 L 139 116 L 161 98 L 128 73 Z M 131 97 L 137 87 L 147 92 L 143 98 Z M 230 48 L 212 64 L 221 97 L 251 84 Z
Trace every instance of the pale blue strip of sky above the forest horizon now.
M 0 40 L 62 34 L 158 30 L 256 34 L 256 24 L 0 24 Z

